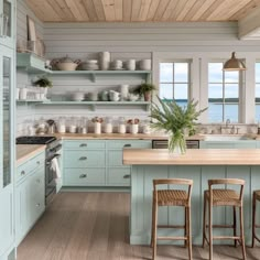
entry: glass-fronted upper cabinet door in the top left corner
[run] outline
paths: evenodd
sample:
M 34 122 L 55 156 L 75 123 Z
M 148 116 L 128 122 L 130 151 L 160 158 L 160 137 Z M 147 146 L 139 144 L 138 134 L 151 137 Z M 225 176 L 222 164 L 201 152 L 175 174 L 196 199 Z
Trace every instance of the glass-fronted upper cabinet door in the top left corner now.
M 0 44 L 14 48 L 15 0 L 0 2 Z

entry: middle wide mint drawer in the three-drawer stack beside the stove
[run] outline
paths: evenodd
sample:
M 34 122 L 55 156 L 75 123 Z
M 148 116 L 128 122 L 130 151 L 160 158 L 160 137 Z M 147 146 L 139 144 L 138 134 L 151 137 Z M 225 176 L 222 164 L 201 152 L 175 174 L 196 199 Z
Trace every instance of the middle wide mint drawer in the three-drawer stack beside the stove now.
M 65 167 L 97 167 L 105 166 L 105 151 L 66 151 Z

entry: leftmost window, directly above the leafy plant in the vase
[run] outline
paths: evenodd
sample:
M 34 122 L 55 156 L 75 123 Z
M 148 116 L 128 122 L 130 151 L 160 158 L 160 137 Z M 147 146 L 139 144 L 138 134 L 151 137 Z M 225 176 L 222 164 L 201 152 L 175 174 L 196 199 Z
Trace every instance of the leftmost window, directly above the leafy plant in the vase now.
M 191 86 L 188 62 L 160 63 L 160 98 L 185 106 Z

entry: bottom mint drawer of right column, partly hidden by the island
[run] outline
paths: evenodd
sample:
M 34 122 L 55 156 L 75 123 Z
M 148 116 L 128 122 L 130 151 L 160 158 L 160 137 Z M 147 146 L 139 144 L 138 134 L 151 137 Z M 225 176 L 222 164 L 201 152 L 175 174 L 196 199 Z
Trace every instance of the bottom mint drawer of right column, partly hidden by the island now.
M 109 167 L 108 184 L 117 186 L 130 186 L 131 169 L 126 167 Z

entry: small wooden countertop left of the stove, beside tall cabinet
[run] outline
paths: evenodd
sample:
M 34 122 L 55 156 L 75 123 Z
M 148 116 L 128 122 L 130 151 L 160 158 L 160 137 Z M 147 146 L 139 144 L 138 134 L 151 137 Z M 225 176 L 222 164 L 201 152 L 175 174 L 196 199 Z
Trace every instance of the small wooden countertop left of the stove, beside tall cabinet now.
M 17 144 L 17 165 L 44 151 L 44 144 Z

